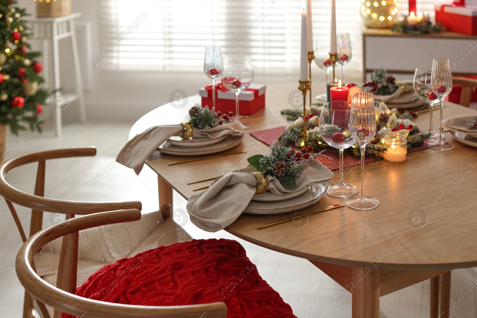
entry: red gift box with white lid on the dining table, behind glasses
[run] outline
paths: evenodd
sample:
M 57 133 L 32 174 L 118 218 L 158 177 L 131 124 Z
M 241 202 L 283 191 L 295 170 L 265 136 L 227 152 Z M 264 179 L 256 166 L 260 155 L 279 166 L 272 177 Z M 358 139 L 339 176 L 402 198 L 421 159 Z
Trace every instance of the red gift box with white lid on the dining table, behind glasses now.
M 251 115 L 265 107 L 265 91 L 263 84 L 250 84 L 249 88 L 239 93 L 239 110 L 242 115 Z M 235 93 L 230 92 L 222 85 L 216 84 L 215 110 L 222 113 L 235 113 Z M 212 85 L 207 85 L 199 90 L 202 97 L 202 107 L 212 109 Z

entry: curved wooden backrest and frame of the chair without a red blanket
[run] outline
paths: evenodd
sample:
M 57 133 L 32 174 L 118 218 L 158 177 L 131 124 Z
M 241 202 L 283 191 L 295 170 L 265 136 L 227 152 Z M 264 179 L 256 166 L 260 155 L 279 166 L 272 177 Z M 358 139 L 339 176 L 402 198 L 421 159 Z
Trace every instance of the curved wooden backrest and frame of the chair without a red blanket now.
M 94 156 L 96 154 L 96 148 L 83 147 L 83 148 L 67 148 L 49 150 L 31 154 L 23 154 L 18 157 L 12 158 L 3 162 L 0 165 L 0 195 L 5 198 L 7 205 L 10 209 L 11 215 L 15 220 L 15 223 L 20 232 L 23 242 L 27 240 L 23 226 L 21 225 L 20 218 L 15 210 L 13 204 L 25 206 L 31 208 L 31 225 L 29 236 L 37 233 L 42 228 L 43 212 L 62 213 L 66 215 L 66 219 L 71 219 L 75 215 L 86 215 L 97 212 L 125 210 L 125 209 L 137 209 L 141 210 L 142 205 L 139 201 L 129 202 L 75 202 L 67 200 L 58 200 L 44 197 L 45 188 L 45 164 L 48 159 L 59 159 L 68 157 L 85 157 Z M 36 174 L 35 190 L 33 194 L 28 194 L 20 191 L 10 185 L 5 175 L 13 168 L 19 167 L 24 164 L 30 164 L 38 162 L 38 169 Z M 68 251 L 76 251 L 76 254 L 67 253 Z M 68 264 L 73 264 L 74 259 L 77 259 L 78 253 L 78 235 L 72 234 L 65 236 L 62 241 L 60 262 L 58 265 L 58 277 L 57 287 L 64 290 L 73 292 L 76 290 L 76 275 L 74 277 L 67 277 L 63 279 L 63 268 Z M 34 264 L 32 265 L 34 267 Z M 76 266 L 76 265 L 74 265 Z M 24 311 L 31 310 L 31 298 L 28 294 L 25 294 L 25 306 Z M 41 311 L 46 310 L 41 308 Z M 58 316 L 55 313 L 55 318 Z M 25 313 L 24 313 L 25 317 Z

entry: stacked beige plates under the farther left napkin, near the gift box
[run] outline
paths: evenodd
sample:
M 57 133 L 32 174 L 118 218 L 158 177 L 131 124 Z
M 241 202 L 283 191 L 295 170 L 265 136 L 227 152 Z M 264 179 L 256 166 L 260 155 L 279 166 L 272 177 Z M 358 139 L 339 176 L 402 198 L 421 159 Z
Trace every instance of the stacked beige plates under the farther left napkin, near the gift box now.
M 174 154 L 179 156 L 197 156 L 201 154 L 215 154 L 221 151 L 228 150 L 240 144 L 243 139 L 243 134 L 241 136 L 231 136 L 228 135 L 227 138 L 221 140 L 215 144 L 207 144 L 204 146 L 197 147 L 182 147 L 176 146 L 174 144 L 166 141 L 164 144 L 161 144 L 157 150 L 164 154 Z

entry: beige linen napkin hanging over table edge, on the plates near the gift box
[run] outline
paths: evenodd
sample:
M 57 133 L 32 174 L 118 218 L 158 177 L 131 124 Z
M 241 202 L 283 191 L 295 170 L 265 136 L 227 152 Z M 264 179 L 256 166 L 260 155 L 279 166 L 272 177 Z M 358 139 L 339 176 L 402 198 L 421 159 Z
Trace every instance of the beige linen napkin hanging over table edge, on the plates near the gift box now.
M 210 129 L 193 129 L 192 138 L 219 138 L 224 135 L 241 136 L 243 126 L 239 121 L 232 121 Z M 133 168 L 136 174 L 143 169 L 147 158 L 172 136 L 182 136 L 181 125 L 157 125 L 146 129 L 128 141 L 116 161 L 126 167 Z

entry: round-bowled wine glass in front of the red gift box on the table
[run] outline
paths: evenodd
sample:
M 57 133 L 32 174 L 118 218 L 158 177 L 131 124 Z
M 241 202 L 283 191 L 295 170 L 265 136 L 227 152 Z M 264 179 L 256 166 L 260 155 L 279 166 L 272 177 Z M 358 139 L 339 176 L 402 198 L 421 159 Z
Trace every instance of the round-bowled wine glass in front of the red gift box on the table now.
M 253 80 L 253 66 L 248 57 L 234 56 L 224 59 L 222 84 L 230 92 L 235 92 L 235 113 L 239 116 L 239 93 L 245 91 Z M 251 127 L 241 122 L 244 129 Z

